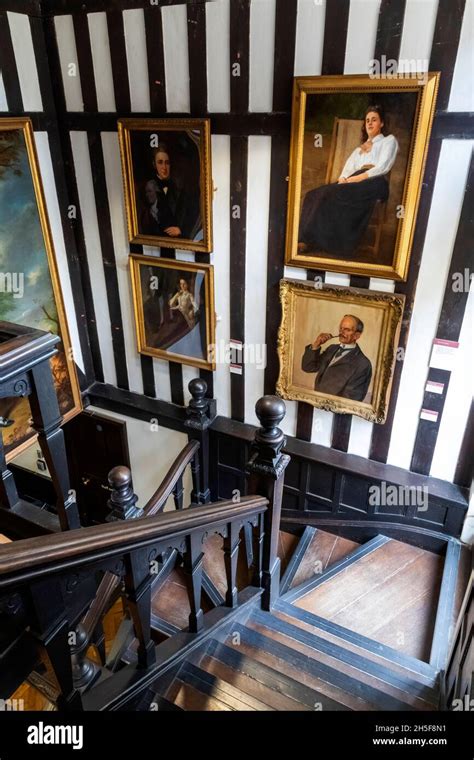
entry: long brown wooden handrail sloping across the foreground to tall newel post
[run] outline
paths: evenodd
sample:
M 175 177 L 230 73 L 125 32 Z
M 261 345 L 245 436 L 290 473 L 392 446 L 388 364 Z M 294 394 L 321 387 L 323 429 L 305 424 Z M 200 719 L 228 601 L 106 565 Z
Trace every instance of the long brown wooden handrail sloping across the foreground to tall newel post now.
M 231 521 L 244 520 L 264 512 L 267 505 L 265 497 L 243 496 L 237 504 L 232 500 L 221 501 L 192 510 L 163 512 L 146 520 L 94 525 L 15 541 L 0 548 L 0 589 L 124 554 L 160 539 L 185 538 L 199 528 L 212 530 Z

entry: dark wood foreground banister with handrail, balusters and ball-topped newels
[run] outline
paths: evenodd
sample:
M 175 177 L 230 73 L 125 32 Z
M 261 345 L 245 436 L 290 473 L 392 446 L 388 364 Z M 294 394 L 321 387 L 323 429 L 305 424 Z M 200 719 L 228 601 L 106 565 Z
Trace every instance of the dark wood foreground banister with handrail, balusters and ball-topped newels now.
M 194 390 L 199 390 L 202 395 L 202 388 Z M 67 534 L 25 539 L 0 548 L 0 602 L 6 597 L 8 604 L 9 597 L 15 600 L 19 595 L 18 599 L 29 610 L 32 635 L 52 658 L 60 689 L 58 708 L 83 709 L 81 693 L 95 682 L 95 674 L 102 672 L 96 665 L 91 668 L 86 651 L 109 600 L 121 583 L 138 640 L 137 668 L 140 673 L 147 674 L 146 678 L 154 672 L 156 657 L 160 656 L 155 649 L 158 650 L 160 645 L 156 646 L 151 636 L 153 571 L 150 563 L 154 557 L 166 554 L 168 549 L 183 556 L 191 610 L 187 629 L 190 634 L 201 638 L 204 634 L 205 616 L 201 607 L 203 541 L 210 533 L 220 533 L 224 538 L 227 591 L 223 607 L 229 611 L 239 607 L 237 549 L 241 529 L 245 529 L 247 536 L 248 528 L 251 528 L 253 547 L 248 559 L 251 569 L 248 591 L 261 589 L 255 599 L 261 599 L 264 609 L 271 608 L 279 588 L 280 561 L 276 544 L 284 470 L 289 462 L 289 457 L 281 452 L 284 436 L 278 428 L 285 406 L 281 399 L 266 396 L 257 403 L 256 413 L 262 426 L 255 436 L 247 465 L 248 490 L 252 496 L 242 496 L 238 502 L 234 498 L 208 503 L 207 472 L 201 472 L 202 478 L 199 474 L 207 458 L 205 433 L 208 418 L 200 412 L 199 420 L 195 419 L 197 411 L 193 410 L 189 420 L 193 433 L 191 442 L 174 462 L 144 510 L 135 506 L 129 470 L 115 468 L 117 487 L 111 497 L 111 522 L 71 530 Z M 195 435 L 199 437 L 195 438 Z M 196 454 L 201 450 L 206 455 L 197 462 Z M 193 508 L 182 510 L 182 474 L 189 463 L 193 470 Z M 177 511 L 156 514 L 173 491 Z M 127 519 L 142 516 L 146 519 Z M 89 611 L 76 627 L 76 640 L 71 644 L 63 594 L 74 594 L 77 582 L 93 570 L 102 570 L 105 574 Z M 179 650 L 182 644 L 176 641 L 175 646 Z M 137 675 L 137 679 L 134 688 L 140 690 L 145 682 L 142 676 Z M 120 695 L 120 679 L 107 678 L 107 691 L 112 681 L 112 691 L 118 688 Z M 98 699 L 100 702 L 101 697 Z

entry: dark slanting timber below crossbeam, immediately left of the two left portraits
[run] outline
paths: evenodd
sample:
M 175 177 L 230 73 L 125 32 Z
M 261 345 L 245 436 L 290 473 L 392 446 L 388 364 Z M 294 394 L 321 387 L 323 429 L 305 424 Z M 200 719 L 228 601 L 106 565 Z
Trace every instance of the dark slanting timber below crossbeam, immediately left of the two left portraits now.
M 89 134 L 88 143 L 91 157 L 92 181 L 94 184 L 97 219 L 99 221 L 99 236 L 102 249 L 102 261 L 104 264 L 107 302 L 109 305 L 117 385 L 119 388 L 128 390 L 127 357 L 123 336 L 122 312 L 120 309 L 117 265 L 115 261 L 109 198 L 107 194 L 107 183 L 105 180 L 104 155 L 100 134 Z

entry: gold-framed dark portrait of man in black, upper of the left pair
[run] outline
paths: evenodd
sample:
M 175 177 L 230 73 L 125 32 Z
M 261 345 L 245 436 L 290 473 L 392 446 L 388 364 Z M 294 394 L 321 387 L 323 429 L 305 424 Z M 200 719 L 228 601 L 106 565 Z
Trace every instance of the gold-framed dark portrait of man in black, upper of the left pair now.
M 120 119 L 129 240 L 212 250 L 209 119 Z

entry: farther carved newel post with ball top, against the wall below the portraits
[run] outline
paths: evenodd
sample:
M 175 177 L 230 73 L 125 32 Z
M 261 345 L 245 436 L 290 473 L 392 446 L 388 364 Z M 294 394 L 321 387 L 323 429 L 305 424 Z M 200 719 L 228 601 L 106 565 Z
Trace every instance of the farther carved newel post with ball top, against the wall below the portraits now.
M 197 457 L 191 462 L 193 504 L 208 504 L 211 500 L 209 489 L 209 425 L 215 408 L 214 399 L 206 398 L 207 383 L 195 378 L 188 385 L 191 401 L 186 410 L 188 419 L 184 423 L 190 441 L 199 441 Z

